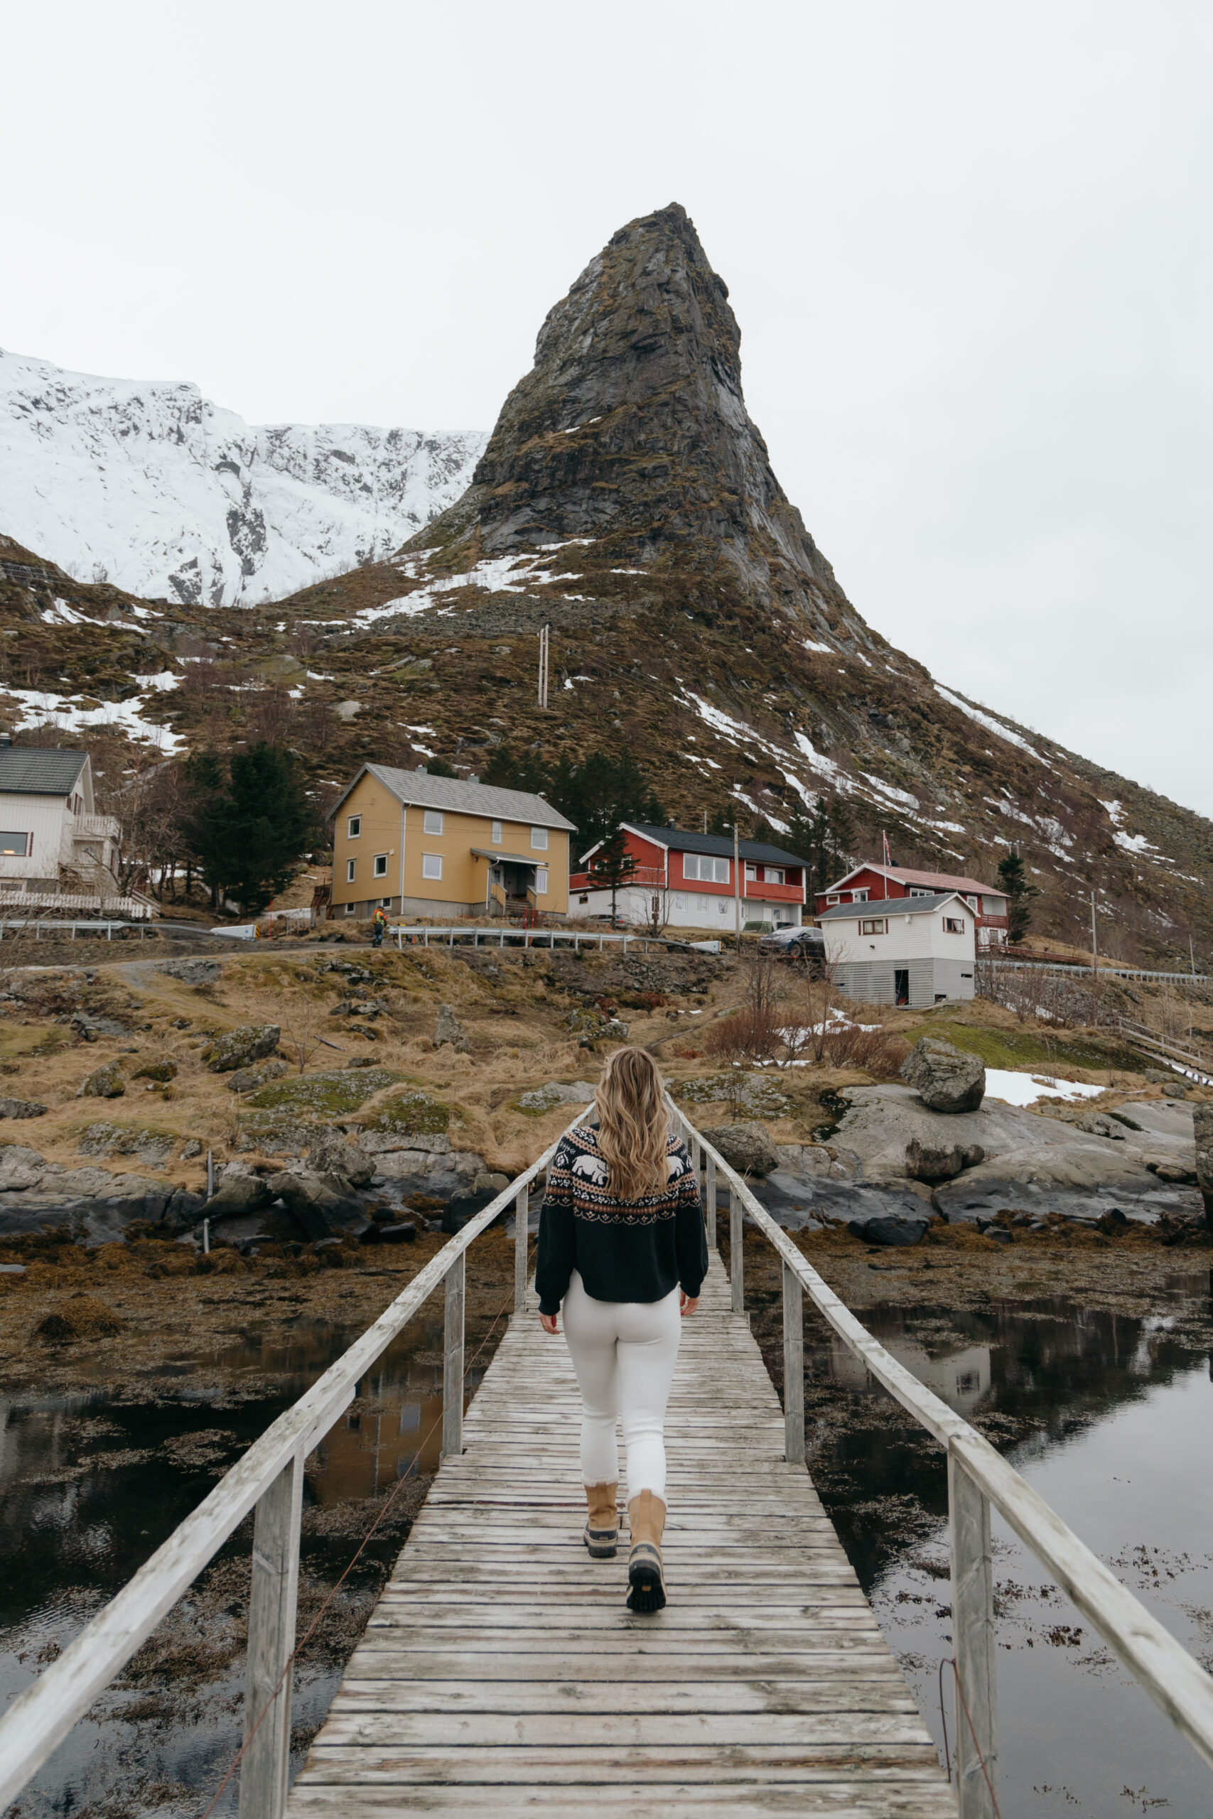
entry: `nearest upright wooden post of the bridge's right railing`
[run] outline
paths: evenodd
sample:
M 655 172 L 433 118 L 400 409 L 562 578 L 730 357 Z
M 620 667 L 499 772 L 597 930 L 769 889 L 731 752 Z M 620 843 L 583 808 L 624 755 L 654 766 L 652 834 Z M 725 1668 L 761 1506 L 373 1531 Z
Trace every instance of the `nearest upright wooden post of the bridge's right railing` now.
M 951 1453 L 947 1457 L 947 1515 L 951 1524 L 951 1635 L 957 1655 L 960 1819 L 995 1819 L 998 1724 L 989 1499 Z

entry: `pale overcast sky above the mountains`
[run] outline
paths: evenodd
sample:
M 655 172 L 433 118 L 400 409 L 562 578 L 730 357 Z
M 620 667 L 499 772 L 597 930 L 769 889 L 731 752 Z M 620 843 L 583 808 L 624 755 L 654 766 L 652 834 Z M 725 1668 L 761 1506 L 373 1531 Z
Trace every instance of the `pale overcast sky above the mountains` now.
M 0 346 L 489 429 L 678 200 L 864 617 L 1213 815 L 1208 0 L 45 0 L 4 58 Z

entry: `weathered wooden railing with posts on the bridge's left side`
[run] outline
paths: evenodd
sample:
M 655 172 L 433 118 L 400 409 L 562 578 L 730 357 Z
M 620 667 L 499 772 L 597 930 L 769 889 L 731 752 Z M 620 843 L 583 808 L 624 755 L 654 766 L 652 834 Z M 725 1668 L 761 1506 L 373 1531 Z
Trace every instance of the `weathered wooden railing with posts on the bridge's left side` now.
M 584 1117 L 584 1108 L 576 1119 Z M 573 1126 L 569 1126 L 571 1130 Z M 515 1313 L 526 1310 L 529 1193 L 556 1142 L 444 1244 L 306 1395 L 255 1441 L 198 1508 L 67 1644 L 0 1719 L 0 1812 L 76 1719 L 122 1672 L 249 1510 L 253 1583 L 244 1692 L 240 1819 L 280 1819 L 291 1743 L 291 1657 L 298 1593 L 304 1461 L 358 1393 L 358 1382 L 436 1288 L 444 1288 L 442 1457 L 464 1450 L 464 1282 L 471 1244 L 513 1202 Z

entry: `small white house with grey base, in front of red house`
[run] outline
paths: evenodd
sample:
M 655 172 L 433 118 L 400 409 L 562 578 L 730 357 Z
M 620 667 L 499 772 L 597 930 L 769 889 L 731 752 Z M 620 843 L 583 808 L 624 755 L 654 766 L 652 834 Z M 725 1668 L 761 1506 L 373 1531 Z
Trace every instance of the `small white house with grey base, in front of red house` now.
M 838 991 L 867 1004 L 971 999 L 977 917 L 957 891 L 837 904 L 817 919 Z

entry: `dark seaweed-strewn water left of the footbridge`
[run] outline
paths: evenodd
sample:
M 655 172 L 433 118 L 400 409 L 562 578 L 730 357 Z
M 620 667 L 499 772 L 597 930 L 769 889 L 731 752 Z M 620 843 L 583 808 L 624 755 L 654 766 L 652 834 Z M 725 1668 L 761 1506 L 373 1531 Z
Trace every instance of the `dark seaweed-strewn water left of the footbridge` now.
M 105 1388 L 0 1399 L 0 1706 L 55 1659 L 213 1488 L 215 1481 L 356 1337 L 300 1324 L 287 1342 L 238 1341 L 178 1357 L 145 1395 Z M 442 1322 L 416 1321 L 360 1384 L 307 1462 L 300 1635 L 378 1499 L 438 1464 Z M 482 1372 L 469 1375 L 475 1388 Z M 404 1486 L 411 1488 L 416 1473 Z M 376 1499 L 371 1502 L 369 1499 Z M 407 1506 L 407 1504 L 406 1504 Z M 155 1659 L 107 1690 L 22 1794 L 22 1819 L 195 1815 L 240 1748 L 251 1519 L 167 1621 Z M 342 1663 L 400 1546 L 386 1524 L 296 1670 L 295 1766 L 327 1712 Z M 236 1781 L 216 1804 L 233 1814 Z

